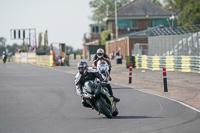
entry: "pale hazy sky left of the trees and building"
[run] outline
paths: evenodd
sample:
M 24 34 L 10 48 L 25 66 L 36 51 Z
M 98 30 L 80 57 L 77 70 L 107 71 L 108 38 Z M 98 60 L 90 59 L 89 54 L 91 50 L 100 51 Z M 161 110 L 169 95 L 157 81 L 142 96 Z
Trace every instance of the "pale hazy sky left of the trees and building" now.
M 0 37 L 6 44 L 22 44 L 12 40 L 11 29 L 36 29 L 39 33 L 48 30 L 48 43 L 65 43 L 74 49 L 82 48 L 84 33 L 89 33 L 91 0 L 0 0 Z M 31 35 L 34 38 L 34 34 Z M 33 42 L 33 41 L 32 41 Z M 33 43 L 34 44 L 34 43 Z

